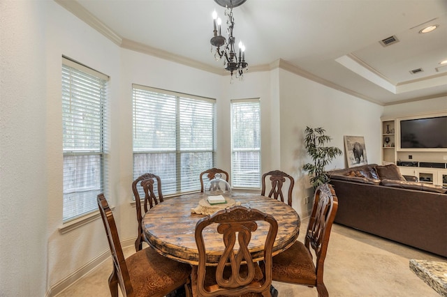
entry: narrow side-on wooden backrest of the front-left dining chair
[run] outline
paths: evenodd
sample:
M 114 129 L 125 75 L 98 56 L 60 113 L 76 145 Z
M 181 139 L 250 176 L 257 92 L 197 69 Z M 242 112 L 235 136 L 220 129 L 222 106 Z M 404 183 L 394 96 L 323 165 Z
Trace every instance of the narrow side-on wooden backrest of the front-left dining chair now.
M 112 210 L 103 194 L 98 195 L 96 200 L 98 201 L 99 212 L 103 219 L 105 234 L 109 241 L 110 252 L 112 253 L 113 259 L 113 269 L 115 273 L 117 273 L 119 287 L 121 288 L 123 296 L 133 296 L 131 279 L 129 277 L 129 271 L 127 270 L 126 260 L 124 259 L 121 242 L 119 241 L 117 225 L 115 224 Z

